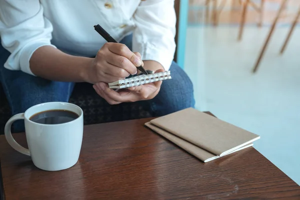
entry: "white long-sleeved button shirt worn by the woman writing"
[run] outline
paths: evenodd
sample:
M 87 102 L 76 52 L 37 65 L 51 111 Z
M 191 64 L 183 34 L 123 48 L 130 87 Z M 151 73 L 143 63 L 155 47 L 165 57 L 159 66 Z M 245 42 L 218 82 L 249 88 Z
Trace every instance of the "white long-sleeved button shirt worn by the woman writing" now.
M 4 67 L 34 75 L 29 59 L 43 45 L 95 56 L 106 42 L 100 24 L 117 41 L 132 32 L 132 51 L 168 70 L 175 22 L 174 0 L 0 0 L 1 43 L 11 53 Z

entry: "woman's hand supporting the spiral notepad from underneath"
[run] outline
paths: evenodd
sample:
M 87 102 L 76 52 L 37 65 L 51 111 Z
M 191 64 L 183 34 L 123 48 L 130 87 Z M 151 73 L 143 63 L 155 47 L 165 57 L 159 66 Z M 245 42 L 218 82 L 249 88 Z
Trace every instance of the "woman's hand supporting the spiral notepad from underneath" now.
M 163 69 L 157 69 L 155 73 L 162 72 Z M 126 89 L 113 90 L 104 82 L 98 82 L 93 85 L 93 88 L 102 98 L 109 104 L 119 104 L 121 102 L 133 102 L 138 100 L 149 100 L 156 96 L 159 92 L 161 80 L 151 82 Z

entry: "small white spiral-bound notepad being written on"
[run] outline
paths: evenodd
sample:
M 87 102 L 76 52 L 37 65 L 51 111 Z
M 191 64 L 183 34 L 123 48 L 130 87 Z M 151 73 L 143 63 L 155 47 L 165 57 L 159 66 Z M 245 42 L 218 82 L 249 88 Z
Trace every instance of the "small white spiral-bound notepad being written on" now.
M 147 84 L 150 82 L 156 82 L 159 80 L 166 80 L 171 79 L 170 71 L 163 71 L 163 72 L 157 72 L 157 73 L 151 73 L 148 75 L 137 75 L 131 78 L 121 79 L 114 82 L 108 83 L 109 88 L 128 88 L 128 87 L 134 87 L 142 84 Z

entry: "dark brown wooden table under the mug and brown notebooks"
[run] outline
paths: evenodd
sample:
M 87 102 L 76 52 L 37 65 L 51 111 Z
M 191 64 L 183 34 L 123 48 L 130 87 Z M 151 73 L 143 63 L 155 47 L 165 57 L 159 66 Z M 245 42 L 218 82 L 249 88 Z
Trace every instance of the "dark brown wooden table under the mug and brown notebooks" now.
M 300 187 L 253 147 L 203 163 L 143 126 L 87 125 L 79 161 L 36 168 L 0 136 L 6 199 L 300 199 Z M 23 133 L 14 138 L 26 145 Z

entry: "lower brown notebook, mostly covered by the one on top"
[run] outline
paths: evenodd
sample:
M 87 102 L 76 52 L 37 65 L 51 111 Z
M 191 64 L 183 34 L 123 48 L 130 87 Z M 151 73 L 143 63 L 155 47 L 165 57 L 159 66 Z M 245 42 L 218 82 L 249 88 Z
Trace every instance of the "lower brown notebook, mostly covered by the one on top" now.
M 166 139 L 168 139 L 169 141 L 173 142 L 174 144 L 178 145 L 179 147 L 181 147 L 182 149 L 186 150 L 187 152 L 189 152 L 190 154 L 194 155 L 195 157 L 199 158 L 200 160 L 202 160 L 203 162 L 208 162 L 211 160 L 214 160 L 216 158 L 219 158 L 221 156 L 215 155 L 203 148 L 200 148 L 199 146 L 196 146 L 184 139 L 181 139 L 180 137 L 177 137 L 174 134 L 171 134 L 153 124 L 151 124 L 150 122 L 146 122 L 145 126 L 149 127 L 150 129 L 152 129 L 153 131 L 155 131 L 156 133 L 160 134 L 161 136 L 165 137 Z M 234 151 L 231 151 L 225 155 L 228 155 L 230 153 L 236 152 L 238 150 L 247 148 L 249 146 L 252 146 L 253 143 L 249 143 L 246 144 L 240 148 L 235 149 Z M 224 155 L 222 155 L 224 156 Z

